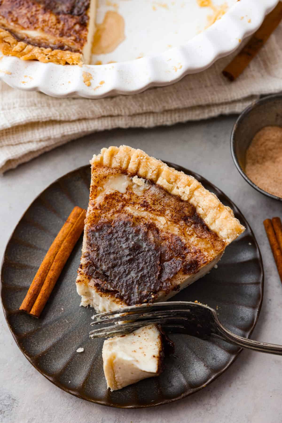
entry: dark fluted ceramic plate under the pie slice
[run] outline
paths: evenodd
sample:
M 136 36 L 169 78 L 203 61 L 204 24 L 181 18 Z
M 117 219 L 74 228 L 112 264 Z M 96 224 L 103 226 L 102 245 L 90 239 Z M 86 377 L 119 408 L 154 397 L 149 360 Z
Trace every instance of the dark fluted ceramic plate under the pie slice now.
M 172 165 L 172 164 L 170 164 Z M 195 176 L 214 192 L 246 227 L 223 255 L 218 268 L 181 291 L 173 301 L 198 300 L 218 308 L 219 319 L 238 335 L 255 327 L 263 299 L 263 265 L 254 234 L 237 207 L 214 185 Z M 43 191 L 27 209 L 8 242 L 1 272 L 1 298 L 6 320 L 27 360 L 61 389 L 88 401 L 112 407 L 151 407 L 200 390 L 233 363 L 240 349 L 220 340 L 203 341 L 172 334 L 175 354 L 165 371 L 110 392 L 102 363 L 102 339 L 89 339 L 93 309 L 79 307 L 75 278 L 82 238 L 68 259 L 40 319 L 19 312 L 30 282 L 68 214 L 88 205 L 90 166 L 68 173 Z M 83 353 L 77 353 L 84 347 Z

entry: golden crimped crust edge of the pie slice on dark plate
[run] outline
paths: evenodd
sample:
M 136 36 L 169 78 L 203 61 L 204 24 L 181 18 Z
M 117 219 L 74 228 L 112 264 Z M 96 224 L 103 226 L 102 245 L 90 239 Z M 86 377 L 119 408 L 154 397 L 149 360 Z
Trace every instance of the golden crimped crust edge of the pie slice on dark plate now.
M 172 195 L 189 201 L 226 245 L 244 231 L 230 207 L 224 206 L 212 192 L 206 190 L 193 176 L 168 167 L 161 160 L 148 156 L 140 149 L 129 146 L 102 148 L 90 161 L 93 167 L 120 168 L 131 176 L 139 176 L 158 184 Z

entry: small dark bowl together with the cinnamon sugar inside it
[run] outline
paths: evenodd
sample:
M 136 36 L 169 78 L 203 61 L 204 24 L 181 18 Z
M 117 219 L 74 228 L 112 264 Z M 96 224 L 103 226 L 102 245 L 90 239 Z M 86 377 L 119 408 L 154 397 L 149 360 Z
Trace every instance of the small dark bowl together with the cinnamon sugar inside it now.
M 231 154 L 255 190 L 282 201 L 282 94 L 264 97 L 241 113 L 231 133 Z

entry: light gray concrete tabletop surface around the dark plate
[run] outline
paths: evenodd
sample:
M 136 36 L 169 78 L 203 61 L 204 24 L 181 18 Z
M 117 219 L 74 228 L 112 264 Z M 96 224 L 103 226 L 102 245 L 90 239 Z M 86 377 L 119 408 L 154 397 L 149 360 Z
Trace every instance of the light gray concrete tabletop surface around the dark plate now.
M 239 175 L 230 155 L 235 116 L 150 130 L 90 135 L 19 166 L 0 178 L 0 257 L 23 212 L 52 181 L 88 163 L 101 147 L 129 144 L 183 165 L 221 188 L 246 216 L 260 245 L 265 291 L 253 338 L 282 343 L 282 285 L 263 220 L 282 203 L 257 193 Z M 214 383 L 188 398 L 151 409 L 111 409 L 75 398 L 39 374 L 19 351 L 0 311 L 0 421 L 4 423 L 210 423 L 282 422 L 282 357 L 244 351 Z

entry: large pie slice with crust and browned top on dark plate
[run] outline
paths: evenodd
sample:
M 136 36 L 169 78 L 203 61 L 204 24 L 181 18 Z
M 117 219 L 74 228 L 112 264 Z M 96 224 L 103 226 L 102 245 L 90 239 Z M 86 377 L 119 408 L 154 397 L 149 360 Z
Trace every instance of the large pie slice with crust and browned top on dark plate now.
M 97 311 L 164 301 L 209 272 L 244 227 L 192 176 L 128 146 L 91 160 L 77 292 Z

